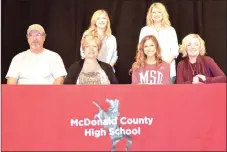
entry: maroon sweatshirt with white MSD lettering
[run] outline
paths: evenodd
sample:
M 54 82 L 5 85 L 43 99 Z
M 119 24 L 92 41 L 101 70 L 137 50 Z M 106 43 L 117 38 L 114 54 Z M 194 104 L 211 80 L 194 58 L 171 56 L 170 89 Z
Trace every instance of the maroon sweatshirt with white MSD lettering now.
M 170 64 L 146 64 L 132 71 L 132 84 L 170 84 Z

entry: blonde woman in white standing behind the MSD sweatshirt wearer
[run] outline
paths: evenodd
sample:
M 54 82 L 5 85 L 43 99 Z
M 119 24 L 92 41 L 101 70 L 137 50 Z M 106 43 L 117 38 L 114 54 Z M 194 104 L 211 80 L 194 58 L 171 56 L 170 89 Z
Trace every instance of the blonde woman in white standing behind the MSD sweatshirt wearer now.
M 175 29 L 169 21 L 169 14 L 162 3 L 153 3 L 146 17 L 146 26 L 140 31 L 139 42 L 147 36 L 154 35 L 161 47 L 162 60 L 170 64 L 171 82 L 176 80 L 176 62 L 179 46 Z

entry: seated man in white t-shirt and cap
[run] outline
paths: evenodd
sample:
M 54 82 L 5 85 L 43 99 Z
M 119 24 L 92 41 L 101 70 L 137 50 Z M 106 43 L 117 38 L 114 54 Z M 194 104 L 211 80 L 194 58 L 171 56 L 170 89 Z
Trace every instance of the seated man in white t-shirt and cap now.
M 6 75 L 7 84 L 63 84 L 67 72 L 61 57 L 43 47 L 46 34 L 39 24 L 30 25 L 30 49 L 17 54 Z

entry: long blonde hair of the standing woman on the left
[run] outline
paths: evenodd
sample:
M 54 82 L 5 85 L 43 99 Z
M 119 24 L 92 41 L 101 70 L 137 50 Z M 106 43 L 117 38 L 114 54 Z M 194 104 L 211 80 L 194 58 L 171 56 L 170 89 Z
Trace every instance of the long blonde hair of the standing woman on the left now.
M 109 15 L 105 10 L 100 9 L 100 10 L 95 11 L 94 14 L 92 15 L 90 27 L 84 32 L 84 35 L 91 34 L 91 35 L 97 36 L 96 21 L 98 20 L 98 17 L 101 14 L 104 14 L 106 16 L 106 19 L 107 19 L 106 31 L 105 31 L 104 35 L 109 36 L 109 35 L 112 34 L 112 31 L 111 31 L 111 28 L 110 28 Z

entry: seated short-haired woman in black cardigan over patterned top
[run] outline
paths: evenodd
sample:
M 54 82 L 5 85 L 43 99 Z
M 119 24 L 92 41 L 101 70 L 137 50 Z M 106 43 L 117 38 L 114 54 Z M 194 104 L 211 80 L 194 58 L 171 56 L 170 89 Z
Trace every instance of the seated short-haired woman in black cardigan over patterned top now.
M 117 84 L 112 67 L 97 59 L 101 40 L 96 36 L 86 35 L 81 45 L 85 59 L 70 66 L 64 84 Z

